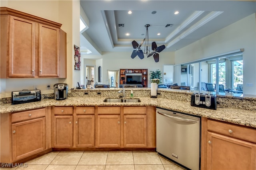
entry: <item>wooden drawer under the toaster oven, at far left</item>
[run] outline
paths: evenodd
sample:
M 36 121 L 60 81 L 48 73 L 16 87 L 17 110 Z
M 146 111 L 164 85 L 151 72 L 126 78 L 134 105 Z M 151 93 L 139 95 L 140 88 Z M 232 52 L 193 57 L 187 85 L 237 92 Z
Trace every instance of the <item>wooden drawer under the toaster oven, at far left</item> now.
M 37 117 L 44 117 L 45 115 L 46 115 L 46 108 L 22 111 L 22 112 L 18 112 L 18 113 L 12 113 L 11 121 L 13 123 L 13 122 L 17 122 L 17 121 L 34 119 Z

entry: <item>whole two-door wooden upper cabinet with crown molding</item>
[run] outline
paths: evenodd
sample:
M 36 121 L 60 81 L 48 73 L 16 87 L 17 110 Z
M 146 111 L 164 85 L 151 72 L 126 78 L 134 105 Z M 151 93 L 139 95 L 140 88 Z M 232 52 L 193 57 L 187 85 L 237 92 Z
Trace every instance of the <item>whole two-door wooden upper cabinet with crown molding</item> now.
M 1 7 L 1 77 L 66 78 L 61 24 Z

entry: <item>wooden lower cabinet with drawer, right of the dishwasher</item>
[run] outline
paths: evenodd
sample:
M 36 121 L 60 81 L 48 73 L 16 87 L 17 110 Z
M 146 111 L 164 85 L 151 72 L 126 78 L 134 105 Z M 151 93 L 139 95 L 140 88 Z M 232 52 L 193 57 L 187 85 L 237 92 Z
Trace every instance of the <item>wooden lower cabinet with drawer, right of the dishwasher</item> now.
M 202 118 L 201 169 L 256 170 L 256 129 Z

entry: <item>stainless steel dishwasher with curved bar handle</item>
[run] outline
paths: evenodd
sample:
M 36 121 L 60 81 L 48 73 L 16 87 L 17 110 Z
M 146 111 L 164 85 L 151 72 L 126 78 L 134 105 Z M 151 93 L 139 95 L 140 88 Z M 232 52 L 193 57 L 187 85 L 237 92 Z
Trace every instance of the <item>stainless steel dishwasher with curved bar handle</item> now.
M 200 117 L 156 109 L 156 152 L 192 170 L 200 169 Z

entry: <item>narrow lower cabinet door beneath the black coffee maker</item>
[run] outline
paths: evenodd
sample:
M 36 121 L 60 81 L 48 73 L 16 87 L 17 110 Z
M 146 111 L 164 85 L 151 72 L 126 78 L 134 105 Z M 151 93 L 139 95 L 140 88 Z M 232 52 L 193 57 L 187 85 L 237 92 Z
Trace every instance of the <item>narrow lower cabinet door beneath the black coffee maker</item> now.
M 54 116 L 54 147 L 73 146 L 73 116 Z

